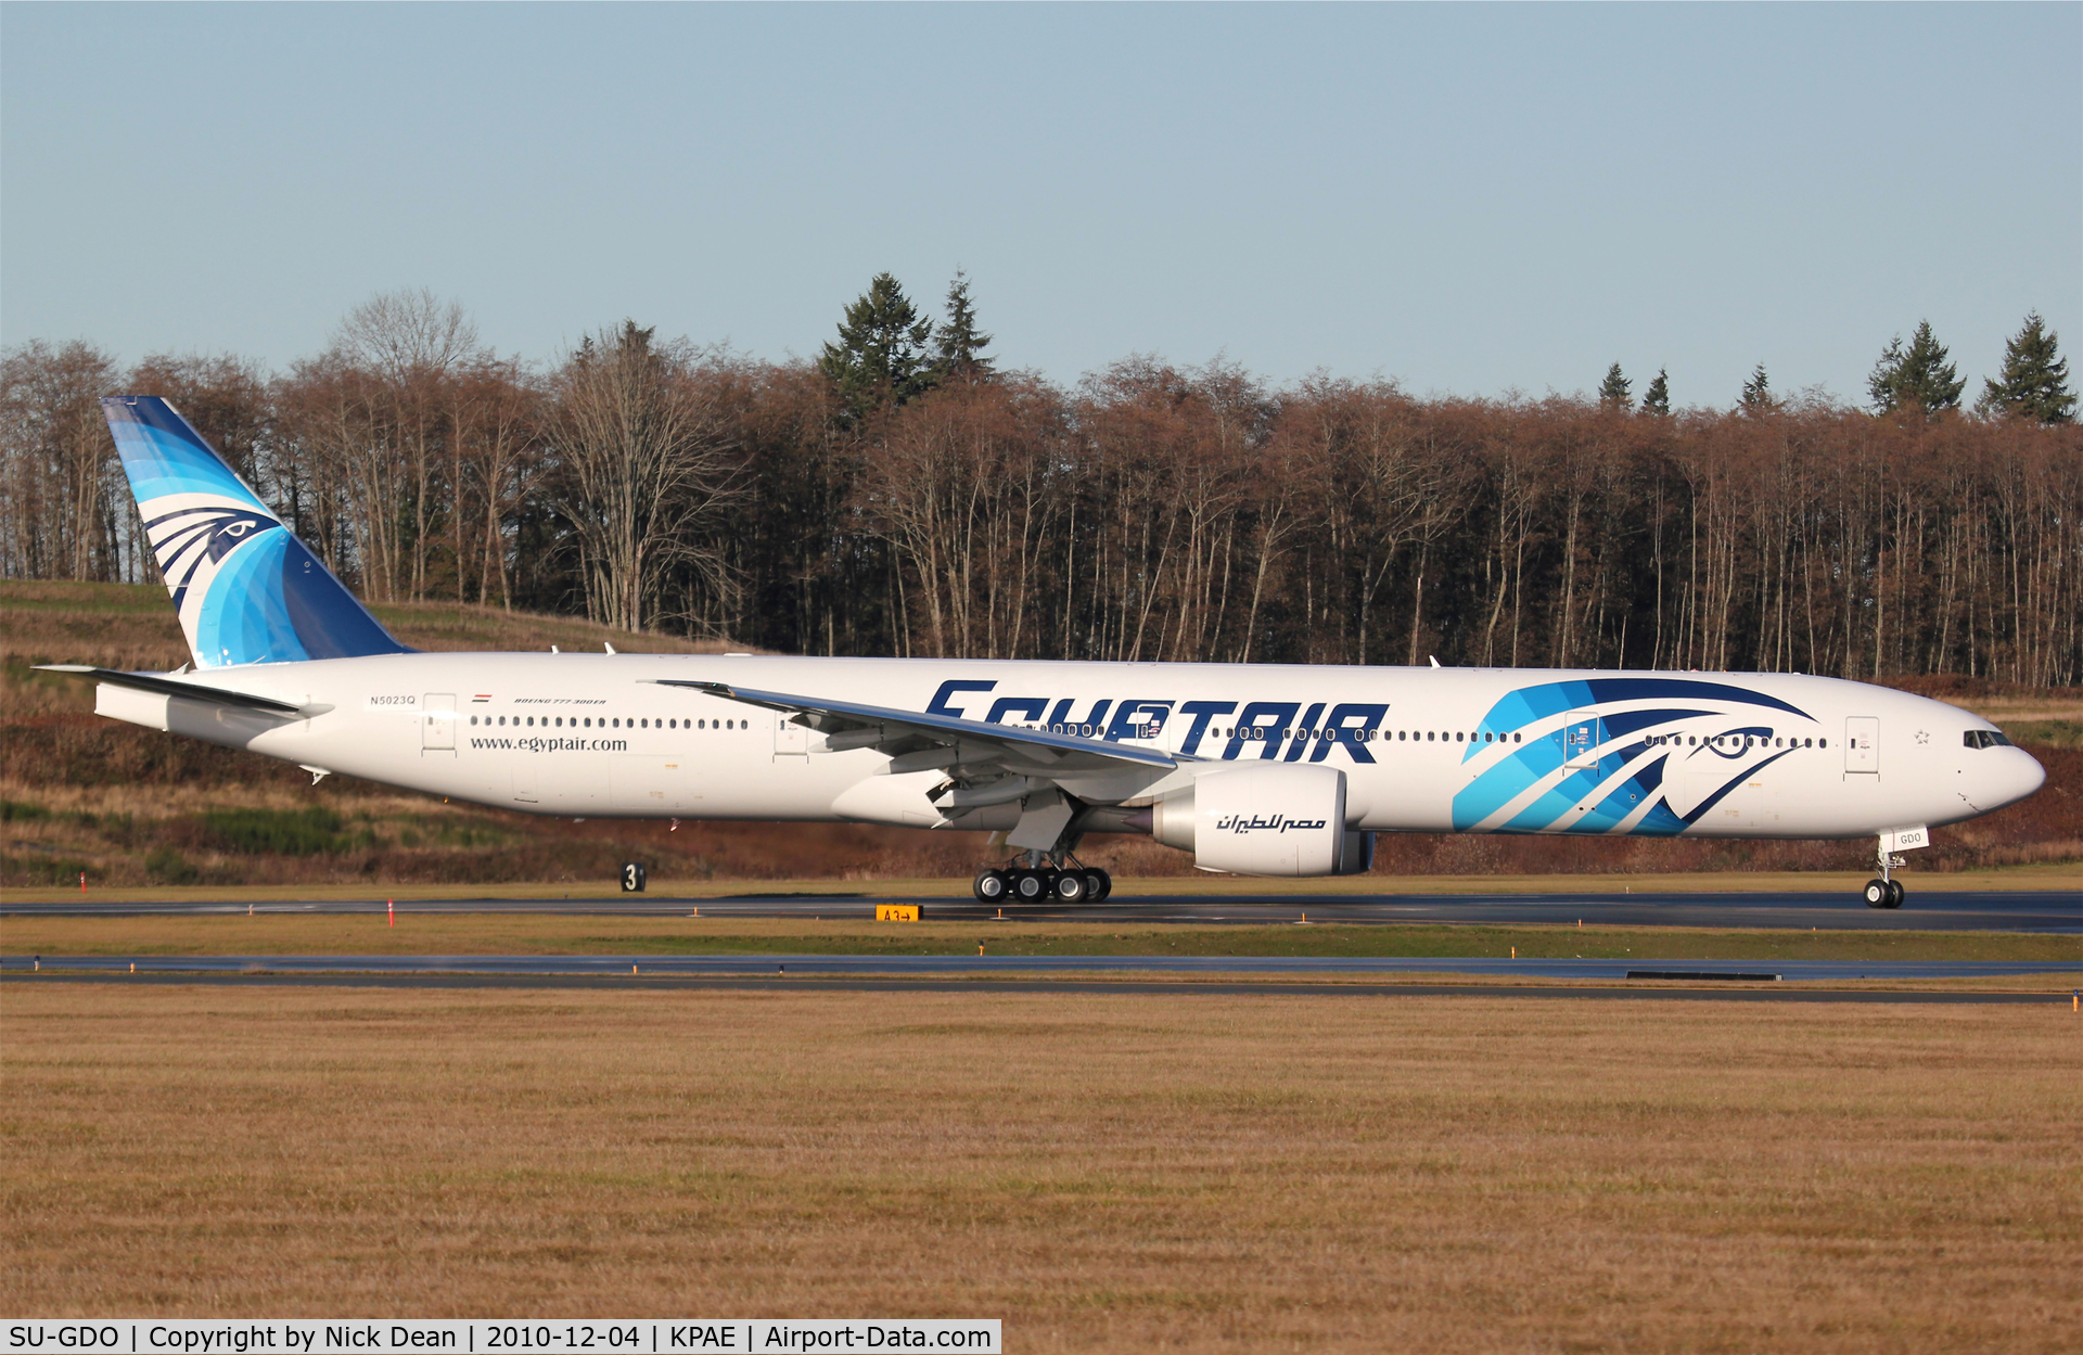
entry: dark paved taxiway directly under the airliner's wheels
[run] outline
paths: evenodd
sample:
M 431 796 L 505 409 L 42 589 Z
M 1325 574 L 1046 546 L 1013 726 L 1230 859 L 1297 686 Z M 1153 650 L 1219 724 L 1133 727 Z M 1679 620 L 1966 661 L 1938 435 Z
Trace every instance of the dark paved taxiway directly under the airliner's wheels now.
M 656 895 L 604 895 L 575 899 L 412 899 L 400 914 L 594 914 L 704 918 L 873 918 L 877 903 L 919 903 L 927 918 L 948 922 L 1141 922 L 1141 924 L 1256 924 L 1294 922 L 1481 922 L 1587 926 L 1785 926 L 1846 930 L 2004 930 L 2083 935 L 2079 891 L 1925 891 L 1910 887 L 1900 910 L 1866 907 L 1858 895 L 1831 893 L 1585 893 L 1585 895 L 1121 895 L 1106 903 L 983 905 L 948 897 L 869 895 L 760 895 L 669 899 Z M 223 916 L 248 907 L 260 914 L 369 914 L 383 899 L 283 899 L 269 903 L 167 901 L 167 903 L 4 903 L 15 918 L 117 918 L 117 916 Z

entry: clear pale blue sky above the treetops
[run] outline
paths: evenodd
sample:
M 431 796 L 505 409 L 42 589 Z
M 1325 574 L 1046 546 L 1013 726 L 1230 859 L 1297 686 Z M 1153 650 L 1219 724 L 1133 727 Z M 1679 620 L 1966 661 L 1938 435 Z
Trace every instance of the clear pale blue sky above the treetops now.
M 1973 393 L 2083 343 L 2083 6 L 0 6 L 6 343 L 785 358 L 956 266 L 1058 381 L 1862 398 L 1929 316 Z

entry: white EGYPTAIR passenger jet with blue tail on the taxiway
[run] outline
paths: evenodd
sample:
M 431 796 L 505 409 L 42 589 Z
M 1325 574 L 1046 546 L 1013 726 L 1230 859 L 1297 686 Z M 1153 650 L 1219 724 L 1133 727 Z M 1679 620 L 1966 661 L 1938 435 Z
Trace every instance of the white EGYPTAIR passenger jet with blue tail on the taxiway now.
M 167 402 L 102 400 L 192 664 L 96 712 L 487 808 L 975 828 L 981 901 L 1098 901 L 1089 833 L 1210 872 L 1369 870 L 1379 833 L 1877 841 L 2025 799 L 1987 720 L 1791 672 L 1371 668 L 402 645 Z

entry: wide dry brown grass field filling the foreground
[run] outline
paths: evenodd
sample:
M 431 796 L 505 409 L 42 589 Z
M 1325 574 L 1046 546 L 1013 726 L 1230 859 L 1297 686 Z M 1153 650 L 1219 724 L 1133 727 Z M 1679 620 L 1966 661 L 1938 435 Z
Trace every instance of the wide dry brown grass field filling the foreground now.
M 0 1305 L 2071 1351 L 2041 1007 L 8 982 Z

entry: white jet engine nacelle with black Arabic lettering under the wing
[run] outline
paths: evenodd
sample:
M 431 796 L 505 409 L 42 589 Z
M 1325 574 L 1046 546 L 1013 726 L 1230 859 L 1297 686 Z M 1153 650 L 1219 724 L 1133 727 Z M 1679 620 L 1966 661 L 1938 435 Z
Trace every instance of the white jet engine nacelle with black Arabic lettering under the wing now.
M 1258 764 L 1210 770 L 1152 806 L 1150 833 L 1229 874 L 1360 874 L 1373 833 L 1346 830 L 1346 772 Z

